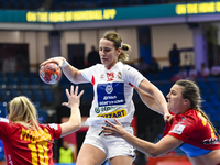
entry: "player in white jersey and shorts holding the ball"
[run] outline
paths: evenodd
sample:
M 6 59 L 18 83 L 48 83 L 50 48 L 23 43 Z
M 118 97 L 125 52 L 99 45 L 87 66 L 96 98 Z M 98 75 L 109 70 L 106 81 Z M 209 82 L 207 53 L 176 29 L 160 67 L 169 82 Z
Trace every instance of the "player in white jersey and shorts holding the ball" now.
M 110 160 L 111 165 L 132 165 L 133 146 L 122 138 L 105 136 L 101 133 L 101 127 L 106 125 L 107 118 L 111 122 L 114 122 L 113 118 L 117 118 L 123 128 L 133 134 L 131 122 L 135 111 L 132 101 L 134 86 L 156 100 L 166 121 L 172 118 L 166 100 L 158 88 L 135 68 L 122 63 L 129 59 L 124 51 L 130 50 L 130 45 L 124 44 L 118 33 L 106 32 L 99 42 L 102 64 L 79 70 L 61 56 L 42 63 L 42 65 L 50 62 L 57 63 L 65 76 L 74 84 L 91 82 L 94 85 L 95 98 L 90 117 L 86 121 L 89 130 L 79 151 L 77 165 L 99 165 L 107 158 Z

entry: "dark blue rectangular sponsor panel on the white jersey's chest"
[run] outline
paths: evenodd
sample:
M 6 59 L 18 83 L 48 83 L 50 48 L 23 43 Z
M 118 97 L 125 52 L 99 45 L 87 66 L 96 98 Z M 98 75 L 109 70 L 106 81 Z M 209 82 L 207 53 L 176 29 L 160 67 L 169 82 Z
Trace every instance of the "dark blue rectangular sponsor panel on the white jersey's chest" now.
M 109 82 L 97 85 L 98 107 L 124 105 L 124 84 Z

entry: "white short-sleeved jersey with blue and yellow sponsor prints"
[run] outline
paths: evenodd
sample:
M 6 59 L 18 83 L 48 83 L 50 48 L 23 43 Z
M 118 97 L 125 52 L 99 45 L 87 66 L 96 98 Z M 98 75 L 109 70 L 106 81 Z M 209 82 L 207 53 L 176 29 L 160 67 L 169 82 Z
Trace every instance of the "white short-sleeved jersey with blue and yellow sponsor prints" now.
M 94 85 L 95 94 L 86 124 L 102 127 L 106 118 L 113 123 L 113 118 L 118 118 L 122 124 L 132 122 L 135 111 L 132 101 L 133 86 L 139 87 L 145 78 L 140 72 L 118 62 L 109 69 L 97 64 L 84 69 L 81 74 Z

